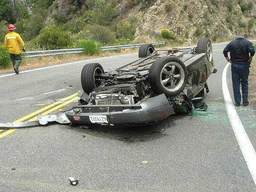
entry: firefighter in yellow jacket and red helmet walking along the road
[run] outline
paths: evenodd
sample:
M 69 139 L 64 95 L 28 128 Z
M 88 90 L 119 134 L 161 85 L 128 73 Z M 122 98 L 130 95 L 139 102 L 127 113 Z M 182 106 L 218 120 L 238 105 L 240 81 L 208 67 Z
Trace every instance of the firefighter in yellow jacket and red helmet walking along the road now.
M 5 36 L 4 44 L 9 49 L 10 58 L 12 60 L 13 69 L 16 74 L 19 72 L 19 66 L 21 63 L 21 49 L 20 45 L 23 47 L 23 52 L 26 52 L 25 44 L 19 34 L 15 33 L 16 27 L 12 24 L 8 26 L 10 32 Z

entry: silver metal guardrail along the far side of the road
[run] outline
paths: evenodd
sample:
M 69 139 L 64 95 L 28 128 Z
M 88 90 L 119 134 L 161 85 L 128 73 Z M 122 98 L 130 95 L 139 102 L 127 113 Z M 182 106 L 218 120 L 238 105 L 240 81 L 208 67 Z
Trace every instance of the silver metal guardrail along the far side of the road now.
M 164 41 L 148 43 L 152 45 L 161 45 L 164 44 Z M 131 44 L 131 45 L 117 45 L 117 46 L 108 46 L 101 47 L 102 51 L 115 50 L 115 49 L 128 49 L 134 47 L 140 47 L 143 44 Z M 28 51 L 25 53 L 26 58 L 29 57 L 40 57 L 40 56 L 50 56 L 50 55 L 61 55 L 61 54 L 71 54 L 71 53 L 81 53 L 84 52 L 84 49 L 56 49 L 56 50 L 45 50 L 45 51 Z

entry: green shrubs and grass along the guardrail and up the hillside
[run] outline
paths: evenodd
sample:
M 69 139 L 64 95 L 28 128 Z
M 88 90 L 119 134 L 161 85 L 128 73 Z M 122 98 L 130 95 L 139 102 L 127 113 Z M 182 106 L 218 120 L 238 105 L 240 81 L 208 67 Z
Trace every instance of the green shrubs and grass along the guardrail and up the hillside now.
M 220 11 L 220 6 L 226 6 L 225 18 L 229 30 L 239 29 L 253 31 L 255 19 L 242 20 L 253 9 L 253 0 L 239 0 L 241 12 L 235 9 L 232 0 L 204 0 L 208 10 L 204 12 L 202 23 L 195 29 L 177 29 L 172 20 L 163 27 L 161 32 L 149 29 L 143 37 L 136 37 L 135 32 L 141 18 L 131 16 L 125 20 L 117 19 L 125 10 L 118 9 L 120 0 L 66 0 L 68 6 L 62 7 L 60 1 L 55 0 L 3 0 L 0 1 L 0 69 L 12 66 L 4 48 L 4 37 L 7 26 L 13 23 L 25 41 L 27 51 L 49 49 L 84 48 L 84 56 L 100 55 L 100 47 L 124 44 L 140 44 L 153 41 L 165 41 L 165 46 L 177 47 L 186 44 L 196 44 L 199 38 L 210 38 L 212 42 L 229 41 L 224 32 L 209 32 L 214 20 L 210 14 Z M 153 6 L 157 0 L 132 0 L 129 9 L 140 6 L 140 11 Z M 161 0 L 164 3 L 164 12 L 175 15 L 175 3 Z M 29 8 L 28 8 L 29 7 Z M 182 12 L 195 20 L 195 13 L 191 11 L 189 3 L 184 3 Z M 238 20 L 234 18 L 238 17 Z M 240 32 L 240 31 L 239 31 Z M 147 36 L 150 36 L 150 39 Z M 111 52 L 110 54 L 113 54 Z M 70 57 L 70 56 L 64 56 Z M 73 57 L 73 56 L 72 56 Z M 61 57 L 60 57 L 61 58 Z M 80 55 L 78 56 L 80 58 Z M 27 59 L 26 59 L 27 60 Z M 51 59 L 49 59 L 51 60 Z M 59 61 L 59 59 L 58 59 Z M 31 63 L 31 62 L 28 62 Z

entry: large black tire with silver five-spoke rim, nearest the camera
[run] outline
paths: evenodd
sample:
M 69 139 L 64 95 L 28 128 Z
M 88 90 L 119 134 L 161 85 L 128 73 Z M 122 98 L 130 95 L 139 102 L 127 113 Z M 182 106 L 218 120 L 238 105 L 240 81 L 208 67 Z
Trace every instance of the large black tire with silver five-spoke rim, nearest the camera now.
M 176 96 L 183 91 L 188 79 L 185 64 L 177 57 L 163 57 L 155 61 L 148 81 L 155 93 Z

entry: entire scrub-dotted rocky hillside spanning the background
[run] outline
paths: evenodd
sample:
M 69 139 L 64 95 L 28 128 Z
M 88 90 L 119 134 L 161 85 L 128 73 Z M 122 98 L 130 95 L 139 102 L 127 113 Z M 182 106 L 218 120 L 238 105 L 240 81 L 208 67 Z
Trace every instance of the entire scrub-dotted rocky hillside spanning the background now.
M 17 26 L 25 41 L 41 29 L 57 26 L 73 41 L 93 39 L 102 44 L 127 41 L 185 43 L 209 37 L 235 38 L 241 32 L 256 36 L 256 0 L 5 0 L 0 3 L 0 41 L 8 23 Z M 162 29 L 168 29 L 164 37 Z M 102 34 L 105 32 L 105 34 Z M 105 37 L 109 37 L 106 39 Z M 103 39 L 102 39 L 103 38 Z

